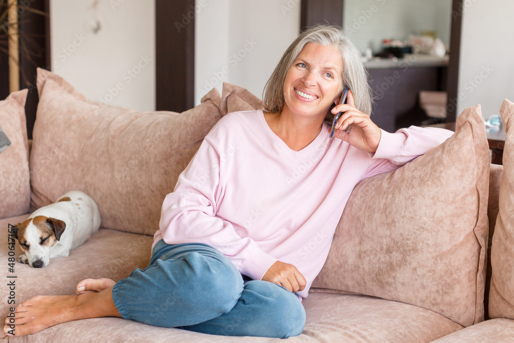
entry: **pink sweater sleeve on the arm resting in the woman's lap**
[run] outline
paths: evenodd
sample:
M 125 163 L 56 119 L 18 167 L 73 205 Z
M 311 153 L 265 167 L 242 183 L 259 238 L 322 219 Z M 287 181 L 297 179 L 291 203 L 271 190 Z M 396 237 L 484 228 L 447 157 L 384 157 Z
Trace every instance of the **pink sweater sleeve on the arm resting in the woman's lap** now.
M 174 192 L 164 198 L 159 223 L 162 239 L 168 244 L 208 244 L 227 256 L 240 273 L 260 280 L 277 259 L 251 238 L 240 237 L 231 222 L 216 215 L 223 199 L 220 163 L 220 154 L 205 139 L 180 174 Z

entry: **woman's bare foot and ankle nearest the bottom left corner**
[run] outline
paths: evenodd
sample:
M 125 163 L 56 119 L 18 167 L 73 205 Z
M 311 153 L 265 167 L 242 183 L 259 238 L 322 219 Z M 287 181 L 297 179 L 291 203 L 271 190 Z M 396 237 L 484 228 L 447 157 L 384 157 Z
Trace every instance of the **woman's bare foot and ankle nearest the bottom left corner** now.
M 79 319 L 121 317 L 113 302 L 112 287 L 99 293 L 37 296 L 18 306 L 14 316 L 5 320 L 4 333 L 8 336 L 30 335 Z

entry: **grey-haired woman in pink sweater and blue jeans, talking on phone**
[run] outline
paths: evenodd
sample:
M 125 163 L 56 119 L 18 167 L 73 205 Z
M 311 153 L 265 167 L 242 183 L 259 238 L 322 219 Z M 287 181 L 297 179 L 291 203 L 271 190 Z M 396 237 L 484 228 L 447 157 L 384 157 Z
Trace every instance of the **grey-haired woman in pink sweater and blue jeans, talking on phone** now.
M 338 104 L 344 87 L 347 103 Z M 24 302 L 16 335 L 104 316 L 219 335 L 300 334 L 301 299 L 353 187 L 451 134 L 380 130 L 366 114 L 370 93 L 340 29 L 303 32 L 266 85 L 267 111 L 225 116 L 180 175 L 162 205 L 150 266 L 119 282 L 83 280 L 78 296 Z

